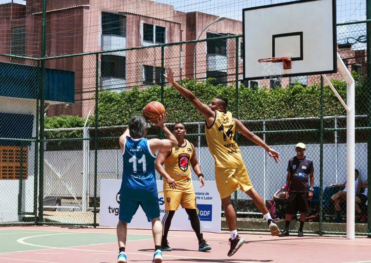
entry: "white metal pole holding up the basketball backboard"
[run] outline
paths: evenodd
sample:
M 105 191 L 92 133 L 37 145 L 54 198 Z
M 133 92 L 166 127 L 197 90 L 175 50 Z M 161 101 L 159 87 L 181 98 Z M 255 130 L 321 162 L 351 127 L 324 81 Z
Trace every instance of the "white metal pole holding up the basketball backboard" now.
M 347 82 L 347 239 L 354 239 L 354 169 L 355 169 L 355 92 L 354 79 L 350 75 L 347 66 L 344 64 L 339 53 L 337 54 L 337 67 Z

